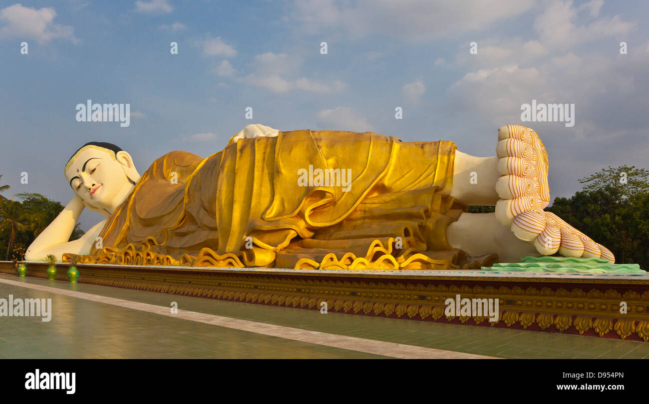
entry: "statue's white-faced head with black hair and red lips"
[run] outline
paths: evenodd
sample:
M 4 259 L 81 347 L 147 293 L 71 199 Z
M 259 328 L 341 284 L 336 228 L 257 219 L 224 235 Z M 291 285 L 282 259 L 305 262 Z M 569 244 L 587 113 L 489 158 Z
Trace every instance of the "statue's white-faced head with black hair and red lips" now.
M 68 160 L 66 180 L 88 205 L 112 212 L 129 194 L 140 174 L 133 158 L 114 144 L 84 144 Z

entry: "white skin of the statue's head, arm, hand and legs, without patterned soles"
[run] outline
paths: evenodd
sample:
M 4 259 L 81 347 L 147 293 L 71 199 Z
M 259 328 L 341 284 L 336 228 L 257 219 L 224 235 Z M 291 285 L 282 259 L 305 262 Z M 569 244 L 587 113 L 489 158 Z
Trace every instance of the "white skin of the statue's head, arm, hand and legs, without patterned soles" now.
M 508 135 L 508 127 L 498 130 L 502 143 Z M 248 125 L 240 131 L 233 141 L 239 138 L 258 136 L 277 136 L 278 131 L 264 125 Z M 531 255 L 552 255 L 557 251 L 570 257 L 599 257 L 598 254 L 582 250 L 551 248 L 539 244 L 538 233 L 532 234 L 512 224 L 513 216 L 503 207 L 515 196 L 498 181 L 506 176 L 502 164 L 498 162 L 508 157 L 506 151 L 496 149 L 495 157 L 473 157 L 456 151 L 453 186 L 450 195 L 465 205 L 496 206 L 496 213 L 463 213 L 458 221 L 447 227 L 447 239 L 452 247 L 463 249 L 469 255 L 478 256 L 497 253 L 501 262 L 518 262 L 520 258 Z M 67 168 L 66 181 L 75 196 L 67 203 L 56 219 L 38 235 L 25 253 L 27 260 L 42 260 L 53 254 L 61 260 L 64 253 L 86 255 L 106 223 L 100 221 L 78 240 L 67 241 L 75 223 L 84 208 L 109 217 L 129 195 L 140 179 L 133 159 L 126 151 L 112 153 L 105 149 L 89 147 Z M 479 181 L 471 181 L 477 175 Z M 565 222 L 563 222 L 565 223 Z M 567 223 L 566 223 L 567 225 Z M 558 246 L 558 241 L 556 241 Z

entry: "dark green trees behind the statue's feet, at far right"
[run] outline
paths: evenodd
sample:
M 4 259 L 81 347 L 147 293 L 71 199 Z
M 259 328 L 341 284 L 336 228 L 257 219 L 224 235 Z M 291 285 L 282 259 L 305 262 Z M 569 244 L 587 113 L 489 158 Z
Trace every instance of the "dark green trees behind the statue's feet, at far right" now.
M 626 183 L 620 179 L 626 173 Z M 649 171 L 621 166 L 605 168 L 580 180 L 584 189 L 557 197 L 553 212 L 572 227 L 606 246 L 618 264 L 649 270 Z

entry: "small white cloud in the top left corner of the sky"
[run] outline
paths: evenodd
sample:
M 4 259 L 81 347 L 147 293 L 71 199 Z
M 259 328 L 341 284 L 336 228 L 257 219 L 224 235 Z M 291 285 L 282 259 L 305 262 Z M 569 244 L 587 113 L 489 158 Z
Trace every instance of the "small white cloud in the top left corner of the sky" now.
M 73 34 L 73 28 L 53 23 L 55 17 L 56 11 L 52 7 L 36 10 L 20 4 L 8 6 L 0 10 L 0 37 L 19 37 L 35 40 L 39 44 L 47 44 L 56 38 L 71 40 L 73 44 L 79 43 Z

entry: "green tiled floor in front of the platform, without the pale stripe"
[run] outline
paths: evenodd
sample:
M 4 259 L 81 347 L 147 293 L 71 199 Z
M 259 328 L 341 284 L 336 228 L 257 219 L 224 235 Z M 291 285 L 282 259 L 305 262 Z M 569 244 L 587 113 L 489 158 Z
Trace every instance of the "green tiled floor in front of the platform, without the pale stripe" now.
M 18 281 L 19 278 L 5 278 Z M 556 333 L 376 318 L 141 292 L 24 282 L 254 322 L 502 358 L 649 358 L 649 344 Z M 385 358 L 0 284 L 0 297 L 51 297 L 52 321 L 0 318 L 0 358 Z

